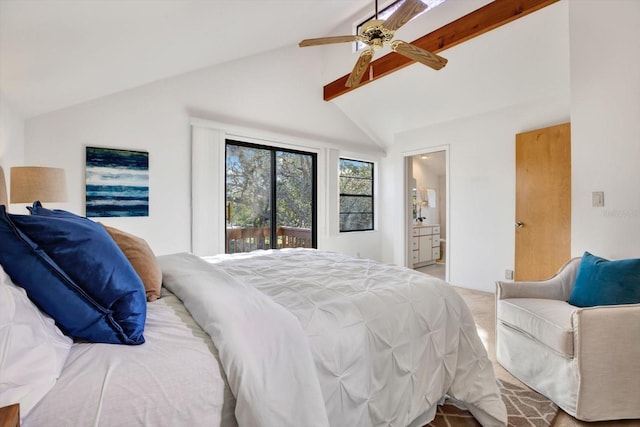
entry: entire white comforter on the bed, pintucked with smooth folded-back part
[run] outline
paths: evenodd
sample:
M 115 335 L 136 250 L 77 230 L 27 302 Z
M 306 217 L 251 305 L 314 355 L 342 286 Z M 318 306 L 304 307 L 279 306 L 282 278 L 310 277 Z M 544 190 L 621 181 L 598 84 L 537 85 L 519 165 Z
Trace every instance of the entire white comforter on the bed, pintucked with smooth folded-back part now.
M 305 249 L 207 261 L 161 257 L 165 286 L 220 351 L 240 425 L 424 425 L 445 394 L 506 425 L 473 318 L 447 283 Z

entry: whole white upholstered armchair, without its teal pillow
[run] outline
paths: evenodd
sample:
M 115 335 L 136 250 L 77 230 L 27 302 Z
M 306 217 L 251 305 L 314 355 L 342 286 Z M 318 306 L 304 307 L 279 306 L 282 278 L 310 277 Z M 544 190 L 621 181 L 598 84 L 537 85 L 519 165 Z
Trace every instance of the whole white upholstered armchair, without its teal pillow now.
M 640 304 L 569 305 L 579 265 L 497 282 L 497 360 L 580 420 L 640 418 Z

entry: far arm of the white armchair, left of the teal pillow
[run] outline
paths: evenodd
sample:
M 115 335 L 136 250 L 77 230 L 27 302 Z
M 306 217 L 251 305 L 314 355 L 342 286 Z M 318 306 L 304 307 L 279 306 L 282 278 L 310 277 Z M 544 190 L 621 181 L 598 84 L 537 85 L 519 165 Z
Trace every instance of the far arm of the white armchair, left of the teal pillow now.
M 571 295 L 580 258 L 573 258 L 552 277 L 528 282 L 496 282 L 496 298 L 540 298 L 566 301 Z

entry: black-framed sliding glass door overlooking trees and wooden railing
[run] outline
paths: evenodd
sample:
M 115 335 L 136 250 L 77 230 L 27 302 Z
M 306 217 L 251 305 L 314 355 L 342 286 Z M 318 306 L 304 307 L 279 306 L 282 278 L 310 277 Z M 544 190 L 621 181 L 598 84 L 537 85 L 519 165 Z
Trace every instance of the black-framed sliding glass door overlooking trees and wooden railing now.
M 316 240 L 316 154 L 227 140 L 226 252 Z

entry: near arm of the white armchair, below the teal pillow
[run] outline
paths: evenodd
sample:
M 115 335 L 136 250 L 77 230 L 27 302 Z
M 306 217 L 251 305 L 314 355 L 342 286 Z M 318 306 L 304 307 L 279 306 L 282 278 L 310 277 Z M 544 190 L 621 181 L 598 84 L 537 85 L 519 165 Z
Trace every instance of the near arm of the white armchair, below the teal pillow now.
M 620 418 L 637 418 L 640 304 L 582 308 L 571 321 L 580 379 L 577 412 L 586 420 L 603 410 Z

